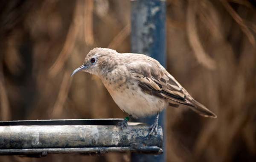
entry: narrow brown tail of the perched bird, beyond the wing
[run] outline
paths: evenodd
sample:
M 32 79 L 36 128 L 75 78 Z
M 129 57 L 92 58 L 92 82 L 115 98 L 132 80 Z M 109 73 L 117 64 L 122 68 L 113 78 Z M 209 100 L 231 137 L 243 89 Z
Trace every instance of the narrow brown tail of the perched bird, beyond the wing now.
M 190 108 L 193 111 L 197 112 L 199 115 L 202 115 L 204 117 L 217 118 L 217 115 L 215 115 L 213 112 L 211 112 L 209 109 L 207 109 L 204 105 L 202 105 L 198 101 L 195 101 L 195 99 L 190 100 L 190 102 L 192 103 Z

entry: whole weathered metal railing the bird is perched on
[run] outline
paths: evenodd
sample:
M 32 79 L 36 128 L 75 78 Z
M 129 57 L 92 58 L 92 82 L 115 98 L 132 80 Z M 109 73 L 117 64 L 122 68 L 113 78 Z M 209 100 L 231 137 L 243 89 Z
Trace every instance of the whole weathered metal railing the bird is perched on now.
M 0 155 L 46 156 L 58 153 L 103 154 L 141 152 L 161 154 L 163 132 L 148 136 L 143 123 L 121 119 L 23 120 L 0 122 Z

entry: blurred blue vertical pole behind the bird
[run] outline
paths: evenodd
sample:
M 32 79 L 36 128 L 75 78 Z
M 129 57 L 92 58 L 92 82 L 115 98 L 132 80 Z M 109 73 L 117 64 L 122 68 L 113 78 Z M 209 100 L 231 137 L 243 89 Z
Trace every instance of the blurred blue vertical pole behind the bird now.
M 131 51 L 157 59 L 166 66 L 166 1 L 131 0 Z M 161 155 L 131 154 L 132 162 L 166 161 L 166 111 L 160 113 L 159 125 L 163 128 L 163 151 Z M 155 116 L 136 121 L 152 124 Z

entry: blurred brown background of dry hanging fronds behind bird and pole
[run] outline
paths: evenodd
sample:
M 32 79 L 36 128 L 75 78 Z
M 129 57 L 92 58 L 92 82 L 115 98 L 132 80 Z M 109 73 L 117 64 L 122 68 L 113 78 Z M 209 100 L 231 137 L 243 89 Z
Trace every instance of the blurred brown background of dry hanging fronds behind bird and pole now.
M 129 0 L 0 0 L 0 120 L 123 118 L 99 78 L 70 78 L 94 47 L 130 52 Z M 218 115 L 167 109 L 170 162 L 256 161 L 256 2 L 167 0 L 167 70 Z M 130 154 L 0 156 L 129 162 Z

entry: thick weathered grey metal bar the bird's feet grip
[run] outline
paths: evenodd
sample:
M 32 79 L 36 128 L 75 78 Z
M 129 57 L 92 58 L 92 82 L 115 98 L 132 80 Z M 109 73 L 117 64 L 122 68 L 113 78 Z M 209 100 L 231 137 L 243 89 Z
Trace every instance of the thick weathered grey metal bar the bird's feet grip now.
M 161 147 L 162 129 L 148 136 L 149 126 L 0 126 L 0 149 L 113 147 L 140 144 Z

